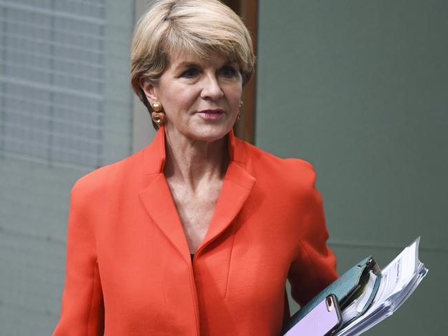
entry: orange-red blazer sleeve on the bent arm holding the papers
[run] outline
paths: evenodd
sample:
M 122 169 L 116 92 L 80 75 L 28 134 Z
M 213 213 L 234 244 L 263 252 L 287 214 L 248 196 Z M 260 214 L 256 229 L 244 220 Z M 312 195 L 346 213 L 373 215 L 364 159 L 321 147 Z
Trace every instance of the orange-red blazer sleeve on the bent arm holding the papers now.
M 337 279 L 336 258 L 327 246 L 329 237 L 325 225 L 322 198 L 314 185 L 316 174 L 311 167 L 311 182 L 301 199 L 301 222 L 298 223 L 299 244 L 288 280 L 294 300 L 303 306 L 326 286 Z

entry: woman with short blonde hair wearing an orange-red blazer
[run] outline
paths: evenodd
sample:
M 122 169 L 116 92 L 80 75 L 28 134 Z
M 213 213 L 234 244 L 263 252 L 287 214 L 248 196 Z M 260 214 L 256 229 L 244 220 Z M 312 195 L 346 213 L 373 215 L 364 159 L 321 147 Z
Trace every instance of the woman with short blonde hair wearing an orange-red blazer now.
M 299 304 L 336 278 L 311 165 L 232 132 L 253 65 L 221 2 L 143 15 L 131 81 L 159 130 L 72 189 L 54 335 L 279 335 L 287 277 Z

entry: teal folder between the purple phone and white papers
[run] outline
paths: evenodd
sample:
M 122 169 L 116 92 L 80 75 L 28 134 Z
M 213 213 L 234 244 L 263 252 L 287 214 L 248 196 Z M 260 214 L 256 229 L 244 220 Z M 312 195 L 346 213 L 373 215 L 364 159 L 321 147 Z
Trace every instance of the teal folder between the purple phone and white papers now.
M 380 286 L 380 267 L 376 264 L 376 262 L 371 257 L 367 257 L 364 260 L 361 260 L 357 264 L 355 264 L 351 269 L 341 275 L 337 280 L 329 284 L 327 288 L 318 293 L 310 302 L 308 302 L 305 306 L 301 307 L 301 309 L 294 314 L 291 319 L 285 324 L 283 327 L 282 335 L 287 333 L 289 329 L 291 329 L 296 323 L 298 323 L 309 311 L 322 302 L 325 297 L 329 294 L 336 295 L 336 298 L 339 302 L 340 310 L 343 311 L 349 304 L 352 304 L 356 298 L 358 298 L 365 291 L 365 286 L 367 286 L 367 282 L 370 279 L 370 273 L 373 272 L 376 275 L 376 280 L 374 282 L 374 288 L 371 292 L 370 297 L 368 298 L 365 306 L 362 311 L 360 311 L 355 317 L 349 319 L 349 321 L 344 321 L 341 328 L 345 325 L 352 322 L 354 319 L 363 315 L 367 308 L 369 308 L 371 302 L 374 300 L 376 292 Z

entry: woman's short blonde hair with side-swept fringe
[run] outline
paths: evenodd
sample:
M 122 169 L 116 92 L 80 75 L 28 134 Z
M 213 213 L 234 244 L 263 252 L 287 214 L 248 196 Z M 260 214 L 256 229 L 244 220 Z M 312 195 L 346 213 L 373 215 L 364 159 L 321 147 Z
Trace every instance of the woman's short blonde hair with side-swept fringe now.
M 243 85 L 254 73 L 254 50 L 241 18 L 218 0 L 159 0 L 136 24 L 131 47 L 131 85 L 150 108 L 141 78 L 156 85 L 170 55 L 185 51 L 207 59 L 212 52 L 239 65 Z

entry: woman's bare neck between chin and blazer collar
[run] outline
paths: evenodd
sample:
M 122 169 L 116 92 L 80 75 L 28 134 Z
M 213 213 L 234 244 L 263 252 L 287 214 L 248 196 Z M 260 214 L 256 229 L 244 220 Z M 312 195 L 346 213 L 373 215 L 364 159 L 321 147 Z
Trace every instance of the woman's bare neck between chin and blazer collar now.
M 165 177 L 196 190 L 198 185 L 223 180 L 229 163 L 227 136 L 207 142 L 165 130 Z

